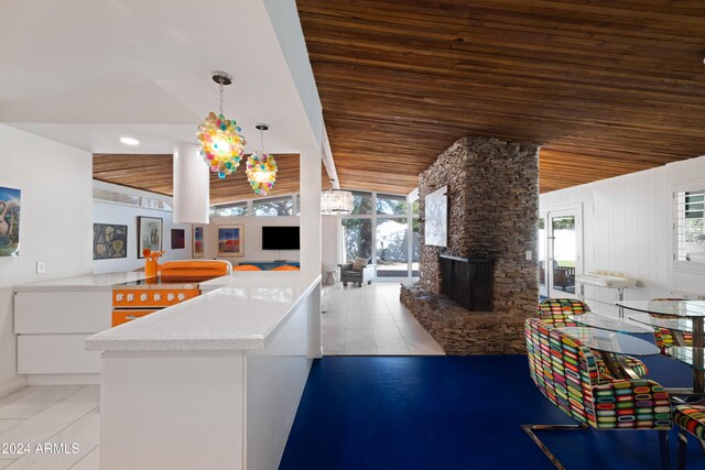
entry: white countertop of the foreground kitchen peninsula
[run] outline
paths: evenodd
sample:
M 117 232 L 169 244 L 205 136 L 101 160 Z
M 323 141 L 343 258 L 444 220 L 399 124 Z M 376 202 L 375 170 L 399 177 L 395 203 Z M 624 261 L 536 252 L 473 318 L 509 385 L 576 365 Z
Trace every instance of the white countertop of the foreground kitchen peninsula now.
M 86 339 L 89 351 L 263 349 L 321 282 L 302 272 L 235 272 L 202 284 L 198 297 Z

